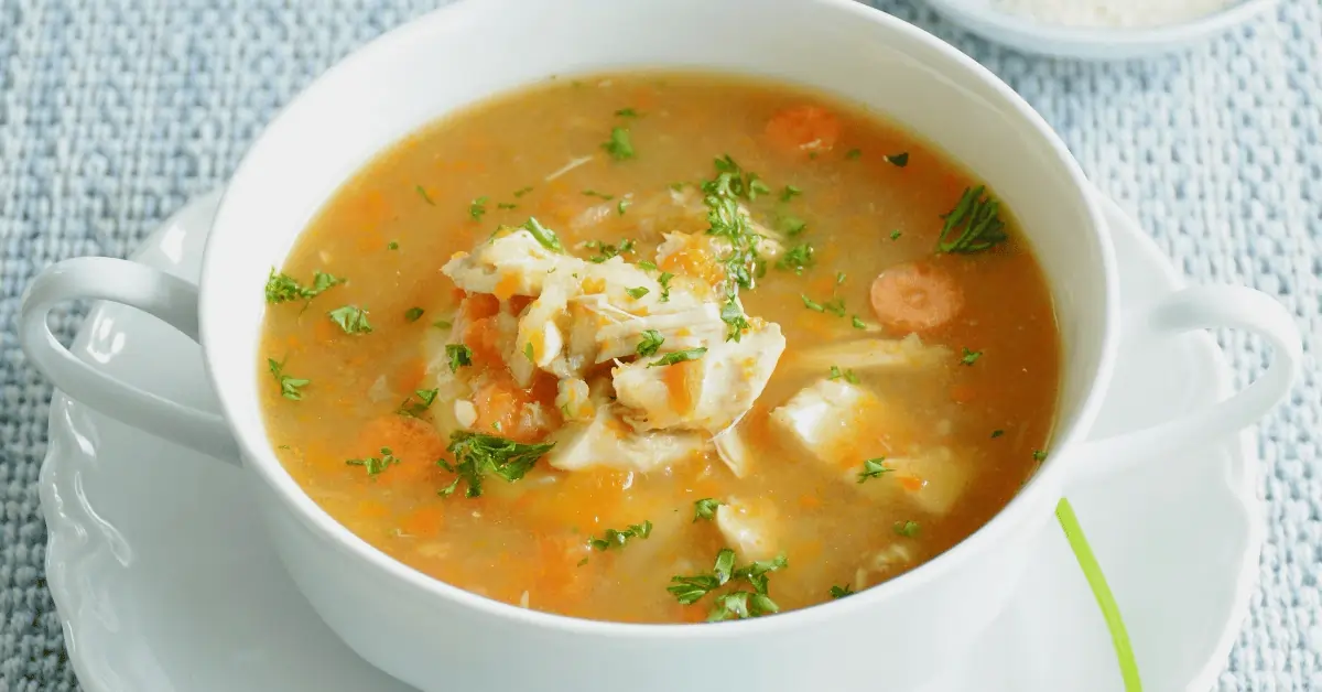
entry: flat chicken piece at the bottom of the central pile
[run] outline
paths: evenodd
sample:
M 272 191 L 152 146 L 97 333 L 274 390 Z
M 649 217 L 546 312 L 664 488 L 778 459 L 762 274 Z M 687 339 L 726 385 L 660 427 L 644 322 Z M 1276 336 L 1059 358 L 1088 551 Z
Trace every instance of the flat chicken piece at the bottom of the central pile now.
M 551 435 L 547 463 L 563 471 L 607 467 L 656 471 L 702 453 L 695 433 L 639 433 L 619 418 L 617 408 L 600 402 L 590 422 L 571 422 Z

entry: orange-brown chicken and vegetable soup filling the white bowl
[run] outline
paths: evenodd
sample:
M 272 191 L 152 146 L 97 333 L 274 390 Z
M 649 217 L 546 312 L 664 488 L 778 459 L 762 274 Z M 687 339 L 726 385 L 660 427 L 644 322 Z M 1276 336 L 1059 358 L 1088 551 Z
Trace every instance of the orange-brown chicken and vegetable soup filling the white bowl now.
M 414 569 L 564 615 L 843 598 L 1034 472 L 1059 339 L 1009 210 L 914 135 L 703 74 L 448 116 L 267 284 L 275 453 Z

